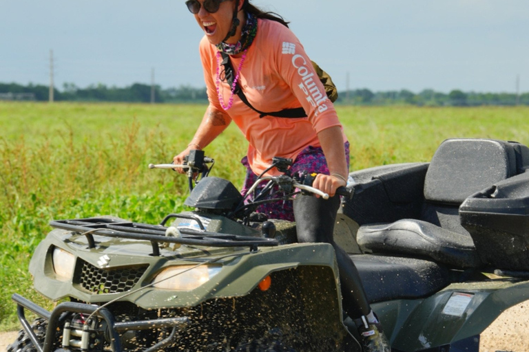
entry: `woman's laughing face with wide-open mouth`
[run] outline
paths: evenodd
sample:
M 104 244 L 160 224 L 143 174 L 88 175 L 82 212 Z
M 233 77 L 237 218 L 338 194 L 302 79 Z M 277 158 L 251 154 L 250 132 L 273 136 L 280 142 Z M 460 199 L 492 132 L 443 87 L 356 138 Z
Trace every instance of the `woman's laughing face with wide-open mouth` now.
M 232 0 L 223 1 L 220 3 L 218 11 L 211 14 L 205 10 L 204 1 L 198 0 L 200 2 L 200 11 L 194 16 L 196 22 L 206 34 L 209 43 L 217 45 L 222 39 L 226 38 L 229 30 L 231 30 L 231 19 L 234 16 L 235 2 Z M 230 39 L 233 41 L 233 37 Z

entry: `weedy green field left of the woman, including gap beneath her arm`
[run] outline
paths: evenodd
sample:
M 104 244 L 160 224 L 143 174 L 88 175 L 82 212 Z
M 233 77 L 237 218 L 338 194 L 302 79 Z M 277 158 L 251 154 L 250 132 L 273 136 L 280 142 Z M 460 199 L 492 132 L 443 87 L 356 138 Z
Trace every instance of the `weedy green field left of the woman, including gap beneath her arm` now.
M 10 295 L 45 302 L 31 289 L 28 262 L 52 219 L 114 214 L 158 223 L 182 209 L 185 177 L 149 170 L 191 139 L 203 106 L 0 104 L 0 324 L 14 322 Z M 247 144 L 230 128 L 208 152 L 222 177 Z M 218 156 L 218 157 L 217 157 Z M 230 170 L 234 170 L 231 173 Z

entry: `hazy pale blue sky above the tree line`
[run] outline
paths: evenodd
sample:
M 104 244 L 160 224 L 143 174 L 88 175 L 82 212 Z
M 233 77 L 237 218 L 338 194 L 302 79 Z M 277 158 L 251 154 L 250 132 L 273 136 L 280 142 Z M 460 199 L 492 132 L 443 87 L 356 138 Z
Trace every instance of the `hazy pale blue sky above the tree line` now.
M 529 91 L 528 0 L 252 0 L 338 89 Z M 0 0 L 0 82 L 203 87 L 184 0 Z

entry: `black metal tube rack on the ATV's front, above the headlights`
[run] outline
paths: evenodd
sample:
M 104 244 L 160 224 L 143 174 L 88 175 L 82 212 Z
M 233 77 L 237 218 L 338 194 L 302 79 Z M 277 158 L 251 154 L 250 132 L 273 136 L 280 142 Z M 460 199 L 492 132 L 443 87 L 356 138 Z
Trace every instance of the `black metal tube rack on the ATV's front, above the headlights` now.
M 171 217 L 194 219 L 198 222 L 200 228 L 204 228 L 200 220 L 195 219 L 195 217 L 174 214 Z M 179 243 L 182 245 L 200 245 L 206 247 L 249 247 L 251 252 L 256 252 L 258 247 L 273 247 L 279 245 L 279 242 L 275 239 L 222 234 L 219 232 L 207 232 L 205 230 L 191 230 L 189 228 L 178 229 L 182 234 L 181 237 L 166 236 L 165 231 L 167 227 L 164 225 L 149 225 L 131 221 L 120 222 L 110 218 L 54 220 L 50 222 L 50 225 L 53 228 L 83 234 L 88 241 L 88 248 L 96 248 L 94 234 L 121 239 L 150 241 L 153 256 L 160 256 L 160 243 Z

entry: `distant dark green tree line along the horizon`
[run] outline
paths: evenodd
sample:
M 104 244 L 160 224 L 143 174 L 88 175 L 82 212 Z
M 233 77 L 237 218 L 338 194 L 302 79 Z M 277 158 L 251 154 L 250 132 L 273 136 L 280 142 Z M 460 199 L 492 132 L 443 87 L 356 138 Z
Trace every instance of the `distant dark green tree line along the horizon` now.
M 48 101 L 49 87 L 45 85 L 19 85 L 0 83 L 0 100 Z M 207 102 L 206 89 L 183 85 L 178 88 L 162 89 L 156 85 L 134 83 L 128 87 L 107 87 L 90 85 L 80 88 L 73 83 L 65 83 L 63 89 L 54 89 L 54 100 L 72 102 L 154 102 L 157 103 L 203 103 Z M 458 106 L 475 107 L 480 105 L 529 105 L 529 93 L 477 93 L 454 89 L 448 94 L 433 89 L 413 93 L 407 89 L 400 91 L 376 91 L 355 89 L 340 91 L 335 104 L 391 105 L 410 104 L 417 106 Z

